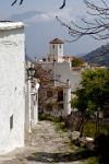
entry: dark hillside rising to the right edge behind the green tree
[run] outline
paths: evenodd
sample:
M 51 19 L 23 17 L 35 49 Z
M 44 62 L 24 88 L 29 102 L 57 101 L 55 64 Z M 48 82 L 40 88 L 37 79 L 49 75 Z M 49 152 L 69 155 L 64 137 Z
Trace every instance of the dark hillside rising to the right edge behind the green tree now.
M 109 67 L 109 44 L 102 45 L 81 58 L 88 63 Z

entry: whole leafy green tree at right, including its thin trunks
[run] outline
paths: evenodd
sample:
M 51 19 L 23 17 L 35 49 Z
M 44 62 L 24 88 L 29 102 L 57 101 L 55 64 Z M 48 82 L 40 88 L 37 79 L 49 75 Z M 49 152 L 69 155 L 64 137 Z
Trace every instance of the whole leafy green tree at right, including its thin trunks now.
M 75 91 L 72 107 L 81 112 L 81 132 L 87 114 L 96 112 L 96 130 L 99 130 L 99 113 L 109 105 L 109 70 L 86 70 L 82 74 L 81 87 Z

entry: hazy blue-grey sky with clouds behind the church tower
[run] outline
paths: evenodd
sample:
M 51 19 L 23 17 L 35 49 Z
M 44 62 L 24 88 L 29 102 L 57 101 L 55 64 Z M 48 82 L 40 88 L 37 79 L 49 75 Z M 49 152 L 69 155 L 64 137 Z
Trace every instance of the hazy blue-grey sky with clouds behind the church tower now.
M 100 0 L 96 0 L 99 4 Z M 108 0 L 107 0 L 108 1 Z M 72 37 L 65 27 L 56 20 L 58 15 L 62 21 L 70 24 L 73 20 L 80 23 L 86 15 L 86 7 L 83 0 L 66 0 L 64 9 L 60 10 L 62 0 L 24 0 L 11 7 L 13 0 L 0 0 L 0 19 L 23 21 L 25 24 L 26 54 L 32 57 L 41 58 L 49 52 L 49 42 L 58 37 L 70 40 Z M 89 36 L 76 43 L 64 43 L 64 55 L 84 55 L 94 50 L 108 40 L 94 40 Z

